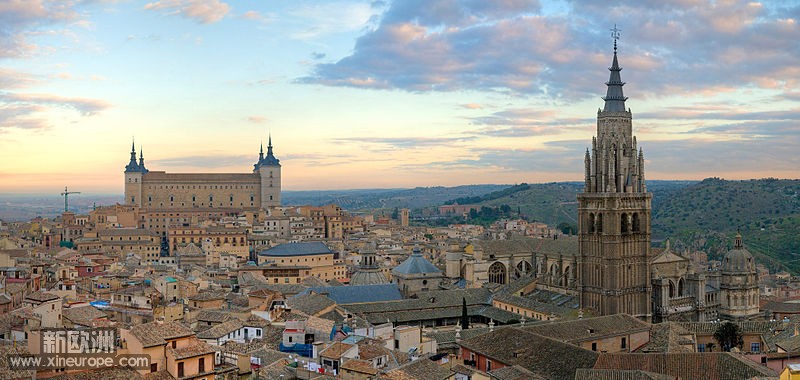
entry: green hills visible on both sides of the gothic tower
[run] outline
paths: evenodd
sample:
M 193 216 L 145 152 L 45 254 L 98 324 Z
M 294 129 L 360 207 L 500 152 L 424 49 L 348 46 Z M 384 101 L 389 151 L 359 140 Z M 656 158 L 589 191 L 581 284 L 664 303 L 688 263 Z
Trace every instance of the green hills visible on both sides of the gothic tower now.
M 485 194 L 475 204 L 508 205 L 528 220 L 552 226 L 577 224 L 582 182 L 526 186 Z M 694 248 L 721 259 L 741 229 L 759 262 L 800 274 L 800 180 L 647 181 L 647 188 L 653 193 L 655 244 L 670 238 L 676 249 Z

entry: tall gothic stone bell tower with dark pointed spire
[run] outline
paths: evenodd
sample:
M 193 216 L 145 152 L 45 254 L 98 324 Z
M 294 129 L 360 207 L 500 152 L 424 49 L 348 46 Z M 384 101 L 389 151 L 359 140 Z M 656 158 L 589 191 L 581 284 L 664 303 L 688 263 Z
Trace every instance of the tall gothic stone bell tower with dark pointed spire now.
M 632 133 L 617 62 L 606 83 L 597 136 L 587 149 L 585 188 L 578 195 L 581 307 L 600 315 L 650 317 L 650 201 L 644 183 L 644 155 Z

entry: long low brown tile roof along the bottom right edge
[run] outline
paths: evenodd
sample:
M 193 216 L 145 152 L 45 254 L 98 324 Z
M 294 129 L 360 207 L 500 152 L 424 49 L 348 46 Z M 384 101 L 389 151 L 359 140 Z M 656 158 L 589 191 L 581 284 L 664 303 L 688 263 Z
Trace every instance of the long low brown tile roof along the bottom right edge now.
M 734 380 L 777 376 L 771 369 L 729 352 L 603 354 L 594 368 L 642 370 L 681 379 Z

